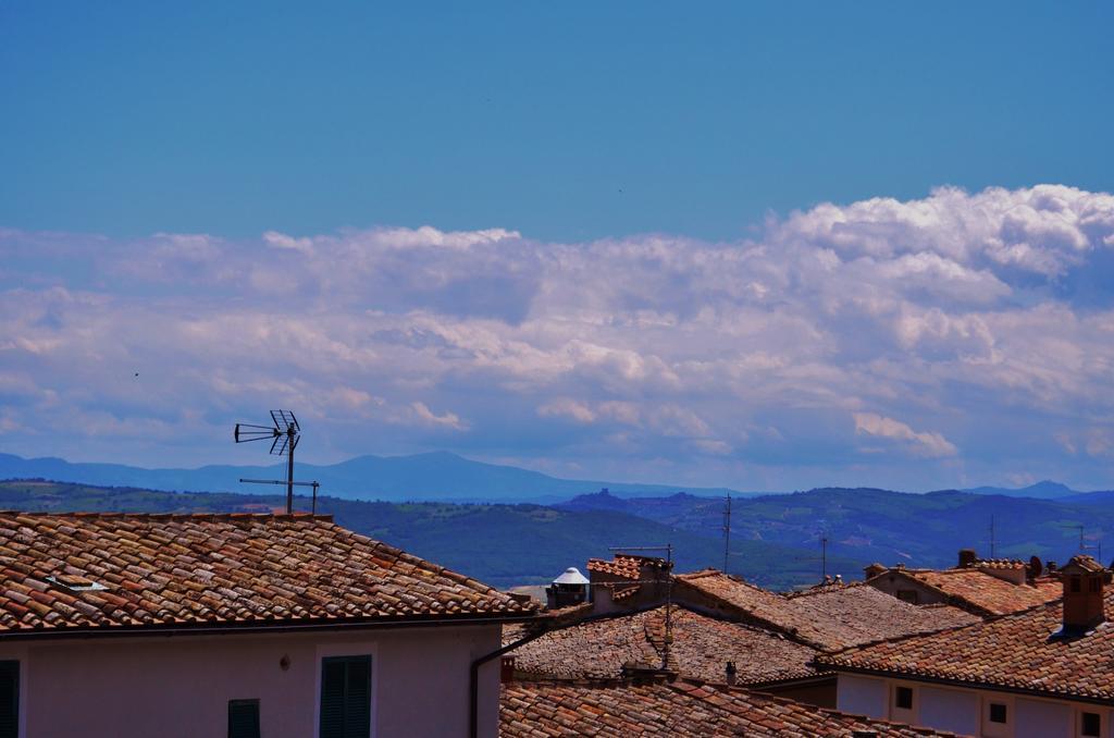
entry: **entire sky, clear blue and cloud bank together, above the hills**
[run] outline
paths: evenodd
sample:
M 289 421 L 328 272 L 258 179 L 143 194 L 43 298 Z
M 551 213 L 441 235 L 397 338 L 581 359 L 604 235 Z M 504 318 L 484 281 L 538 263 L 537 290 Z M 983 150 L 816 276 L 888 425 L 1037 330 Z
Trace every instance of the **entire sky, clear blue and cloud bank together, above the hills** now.
M 0 449 L 1111 486 L 1111 27 L 4 3 Z

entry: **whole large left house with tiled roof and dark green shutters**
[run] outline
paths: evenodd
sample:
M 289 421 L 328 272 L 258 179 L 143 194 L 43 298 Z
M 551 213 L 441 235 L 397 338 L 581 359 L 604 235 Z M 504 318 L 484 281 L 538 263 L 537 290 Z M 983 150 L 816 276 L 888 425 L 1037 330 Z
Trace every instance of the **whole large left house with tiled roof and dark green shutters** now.
M 0 738 L 494 738 L 534 608 L 309 515 L 0 513 Z

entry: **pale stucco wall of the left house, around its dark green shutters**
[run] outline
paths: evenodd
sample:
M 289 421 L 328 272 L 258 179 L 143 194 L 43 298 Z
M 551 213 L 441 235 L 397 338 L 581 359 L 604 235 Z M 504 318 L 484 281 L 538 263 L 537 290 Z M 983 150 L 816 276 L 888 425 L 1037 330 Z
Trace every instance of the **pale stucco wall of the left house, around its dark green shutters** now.
M 372 656 L 373 734 L 467 736 L 469 667 L 498 625 L 175 635 L 0 644 L 19 659 L 21 736 L 224 736 L 227 703 L 258 699 L 263 736 L 316 735 L 321 659 Z M 290 668 L 280 661 L 289 657 Z M 495 737 L 498 659 L 480 671 L 480 735 Z

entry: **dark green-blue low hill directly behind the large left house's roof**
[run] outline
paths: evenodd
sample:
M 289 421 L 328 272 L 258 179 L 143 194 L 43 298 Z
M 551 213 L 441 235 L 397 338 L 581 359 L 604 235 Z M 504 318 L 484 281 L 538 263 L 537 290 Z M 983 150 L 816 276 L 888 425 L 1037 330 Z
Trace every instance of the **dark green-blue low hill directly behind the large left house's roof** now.
M 0 507 L 26 511 L 137 513 L 268 512 L 283 495 L 173 493 L 43 480 L 0 482 Z M 306 509 L 309 501 L 297 499 Z M 353 531 L 382 540 L 497 586 L 551 581 L 568 566 L 608 546 L 672 543 L 678 570 L 721 566 L 723 542 L 616 511 L 567 511 L 541 505 L 388 503 L 322 497 L 319 512 Z M 740 540 L 732 571 L 764 586 L 812 584 L 820 563 L 812 551 Z M 853 573 L 859 562 L 833 557 L 831 571 Z

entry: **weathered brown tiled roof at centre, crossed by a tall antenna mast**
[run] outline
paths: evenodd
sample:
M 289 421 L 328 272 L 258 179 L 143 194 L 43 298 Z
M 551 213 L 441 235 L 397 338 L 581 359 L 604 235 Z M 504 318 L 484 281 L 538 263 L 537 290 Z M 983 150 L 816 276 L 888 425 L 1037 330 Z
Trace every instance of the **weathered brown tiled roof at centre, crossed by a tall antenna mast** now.
M 525 633 L 504 629 L 504 642 Z M 659 668 L 665 608 L 594 620 L 555 630 L 515 651 L 516 669 L 548 679 L 615 678 L 623 667 Z M 812 677 L 817 650 L 776 633 L 673 608 L 671 667 L 686 677 L 724 681 L 734 661 L 739 683 Z

